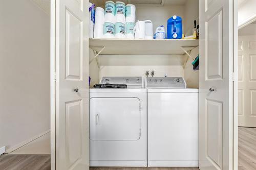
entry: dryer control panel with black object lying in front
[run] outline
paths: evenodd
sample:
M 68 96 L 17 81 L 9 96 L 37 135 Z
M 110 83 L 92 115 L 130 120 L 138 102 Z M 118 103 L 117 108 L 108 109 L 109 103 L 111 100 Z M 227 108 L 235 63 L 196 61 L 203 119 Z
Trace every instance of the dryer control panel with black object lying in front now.
M 142 77 L 102 77 L 101 84 L 126 84 L 127 88 L 143 88 Z

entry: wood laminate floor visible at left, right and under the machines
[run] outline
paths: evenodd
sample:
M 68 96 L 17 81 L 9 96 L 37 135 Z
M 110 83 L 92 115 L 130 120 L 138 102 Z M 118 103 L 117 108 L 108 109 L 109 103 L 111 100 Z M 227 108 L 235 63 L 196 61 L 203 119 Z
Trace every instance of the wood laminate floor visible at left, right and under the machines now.
M 0 155 L 1 170 L 50 170 L 50 155 Z M 256 169 L 256 128 L 238 128 L 238 169 Z M 198 170 L 197 167 L 91 167 L 90 170 Z

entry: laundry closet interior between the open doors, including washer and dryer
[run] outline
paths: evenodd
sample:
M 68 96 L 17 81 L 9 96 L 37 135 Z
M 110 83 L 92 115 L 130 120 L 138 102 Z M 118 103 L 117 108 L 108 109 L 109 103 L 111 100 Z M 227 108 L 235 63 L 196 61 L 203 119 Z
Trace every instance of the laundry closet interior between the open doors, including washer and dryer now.
M 153 32 L 173 16 L 182 18 L 183 36 L 199 25 L 198 1 L 122 2 Z M 109 36 L 89 39 L 90 166 L 198 167 L 199 40 Z M 127 88 L 94 88 L 99 83 Z

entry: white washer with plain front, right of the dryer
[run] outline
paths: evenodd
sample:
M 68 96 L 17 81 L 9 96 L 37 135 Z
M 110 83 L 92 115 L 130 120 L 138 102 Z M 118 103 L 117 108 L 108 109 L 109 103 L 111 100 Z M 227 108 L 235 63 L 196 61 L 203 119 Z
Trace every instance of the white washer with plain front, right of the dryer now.
M 148 166 L 199 165 L 198 89 L 183 78 L 147 78 Z

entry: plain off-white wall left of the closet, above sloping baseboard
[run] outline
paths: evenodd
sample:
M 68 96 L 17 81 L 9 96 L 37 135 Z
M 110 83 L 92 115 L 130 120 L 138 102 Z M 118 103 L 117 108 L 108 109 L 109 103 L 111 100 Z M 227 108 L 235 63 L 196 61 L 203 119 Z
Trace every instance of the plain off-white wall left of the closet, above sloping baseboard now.
M 50 18 L 29 0 L 0 1 L 0 148 L 50 129 Z

